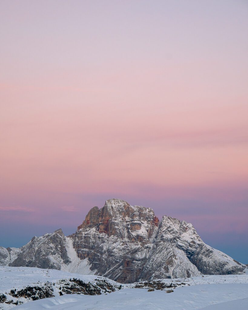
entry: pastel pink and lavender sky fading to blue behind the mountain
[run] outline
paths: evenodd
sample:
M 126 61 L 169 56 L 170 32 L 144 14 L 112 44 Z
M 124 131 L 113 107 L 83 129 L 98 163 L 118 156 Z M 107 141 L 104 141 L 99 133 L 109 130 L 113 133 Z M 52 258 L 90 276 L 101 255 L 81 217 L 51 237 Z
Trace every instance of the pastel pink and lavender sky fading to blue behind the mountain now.
M 120 198 L 248 263 L 248 2 L 0 1 L 0 246 Z

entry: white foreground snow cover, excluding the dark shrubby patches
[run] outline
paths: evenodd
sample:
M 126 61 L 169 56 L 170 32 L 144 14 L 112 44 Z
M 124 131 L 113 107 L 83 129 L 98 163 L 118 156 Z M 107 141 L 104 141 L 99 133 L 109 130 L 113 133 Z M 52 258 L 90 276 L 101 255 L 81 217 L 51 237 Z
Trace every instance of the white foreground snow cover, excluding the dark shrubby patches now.
M 248 269 L 247 269 L 248 270 Z M 84 282 L 95 283 L 97 279 L 106 280 L 117 290 L 111 294 L 78 295 L 64 294 L 60 296 L 62 279 L 78 278 Z M 182 279 L 161 279 L 160 281 L 173 286 L 174 292 L 166 290 L 148 292 L 147 288 L 134 288 L 137 283 L 124 284 L 118 290 L 120 283 L 95 275 L 80 275 L 55 269 L 29 267 L 0 267 L 0 294 L 5 294 L 7 300 L 15 299 L 8 293 L 11 289 L 22 289 L 27 286 L 44 286 L 52 283 L 55 297 L 30 301 L 24 297 L 18 300 L 22 305 L 14 309 L 26 310 L 247 310 L 248 309 L 248 274 L 201 276 Z M 53 285 L 53 283 L 55 285 Z M 13 304 L 0 303 L 0 309 L 13 308 Z

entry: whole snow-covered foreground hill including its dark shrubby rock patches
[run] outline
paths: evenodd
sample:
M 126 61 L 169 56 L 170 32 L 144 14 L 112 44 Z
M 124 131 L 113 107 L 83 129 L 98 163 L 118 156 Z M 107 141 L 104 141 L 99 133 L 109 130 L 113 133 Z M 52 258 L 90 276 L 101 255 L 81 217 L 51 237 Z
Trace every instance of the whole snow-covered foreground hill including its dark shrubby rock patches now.
M 195 288 L 190 288 L 193 286 Z M 148 292 L 148 289 L 154 291 Z M 122 293 L 119 293 L 120 290 Z M 0 267 L 0 296 L 5 296 L 5 300 L 0 301 L 0 309 L 4 310 L 22 303 L 24 304 L 20 309 L 54 307 L 77 310 L 82 309 L 84 303 L 88 304 L 88 308 L 98 310 L 107 307 L 133 309 L 132 306 L 137 310 L 142 307 L 160 309 L 165 303 L 173 305 L 174 308 L 168 308 L 171 310 L 199 309 L 200 305 L 205 307 L 217 302 L 245 298 L 247 292 L 246 274 L 160 279 L 120 285 L 104 277 L 83 276 L 54 269 Z M 100 296 L 109 293 L 110 297 Z M 90 295 L 97 296 L 94 298 Z M 81 308 L 77 308 L 79 304 Z

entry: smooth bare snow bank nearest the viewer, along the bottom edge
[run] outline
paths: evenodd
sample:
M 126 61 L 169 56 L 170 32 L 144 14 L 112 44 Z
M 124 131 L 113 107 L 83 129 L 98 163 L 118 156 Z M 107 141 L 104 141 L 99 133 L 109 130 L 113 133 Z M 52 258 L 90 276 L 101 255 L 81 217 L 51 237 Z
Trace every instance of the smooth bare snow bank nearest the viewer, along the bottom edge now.
M 247 305 L 248 284 L 211 284 L 185 286 L 175 289 L 174 292 L 166 294 L 165 291 L 155 290 L 147 292 L 144 289 L 126 289 L 113 292 L 108 295 L 86 296 L 86 295 L 64 295 L 61 297 L 47 298 L 30 302 L 15 307 L 16 310 L 192 310 L 202 309 L 207 306 L 216 305 L 213 309 L 223 308 L 222 303 L 232 301 L 235 305 Z M 228 305 L 228 304 L 227 304 Z M 223 306 L 223 307 L 222 307 Z M 222 307 L 222 308 L 219 308 Z M 233 308 L 229 308 L 233 309 Z M 236 308 L 245 310 L 247 308 Z

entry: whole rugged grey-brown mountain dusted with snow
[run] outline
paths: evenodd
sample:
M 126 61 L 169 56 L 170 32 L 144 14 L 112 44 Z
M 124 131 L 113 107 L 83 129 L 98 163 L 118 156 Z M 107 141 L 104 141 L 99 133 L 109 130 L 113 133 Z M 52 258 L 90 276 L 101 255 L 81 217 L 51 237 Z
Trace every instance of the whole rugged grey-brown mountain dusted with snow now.
M 93 207 L 71 236 L 58 229 L 20 249 L 0 247 L 0 265 L 95 274 L 120 283 L 246 269 L 206 245 L 192 224 L 166 215 L 159 221 L 153 209 L 120 199 Z

